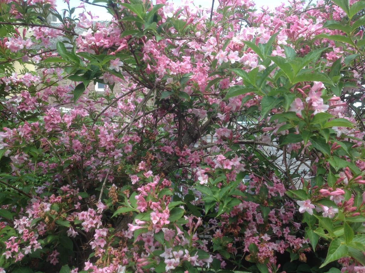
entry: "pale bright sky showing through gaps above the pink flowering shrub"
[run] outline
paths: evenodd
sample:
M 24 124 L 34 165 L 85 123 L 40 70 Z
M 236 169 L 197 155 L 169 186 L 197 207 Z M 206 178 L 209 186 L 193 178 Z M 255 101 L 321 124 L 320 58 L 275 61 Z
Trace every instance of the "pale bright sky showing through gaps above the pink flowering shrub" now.
M 92 2 L 92 0 L 89 0 L 90 2 Z M 268 6 L 269 8 L 274 8 L 278 5 L 281 4 L 281 2 L 287 2 L 287 0 L 254 0 L 254 2 L 256 3 L 256 6 L 258 8 L 264 6 Z M 176 5 L 181 5 L 183 0 L 170 0 L 169 2 L 173 2 Z M 57 9 L 58 11 L 67 8 L 67 5 L 64 3 L 64 0 L 57 0 Z M 70 0 L 70 5 L 71 7 L 77 7 L 80 3 L 82 3 L 81 1 L 78 0 Z M 212 0 L 194 0 L 193 3 L 196 6 L 201 5 L 201 7 L 203 8 L 211 8 L 212 7 Z M 99 3 L 99 4 L 103 4 L 103 3 Z M 214 1 L 214 6 L 217 7 L 218 6 L 218 0 Z M 106 12 L 106 10 L 104 8 L 101 7 L 96 7 L 94 5 L 90 5 L 85 3 L 85 7 L 87 9 L 87 11 L 91 11 L 93 15 L 98 15 L 99 16 L 99 20 L 110 20 L 111 19 L 111 15 L 108 14 L 108 12 Z M 81 12 L 81 10 L 79 10 Z

